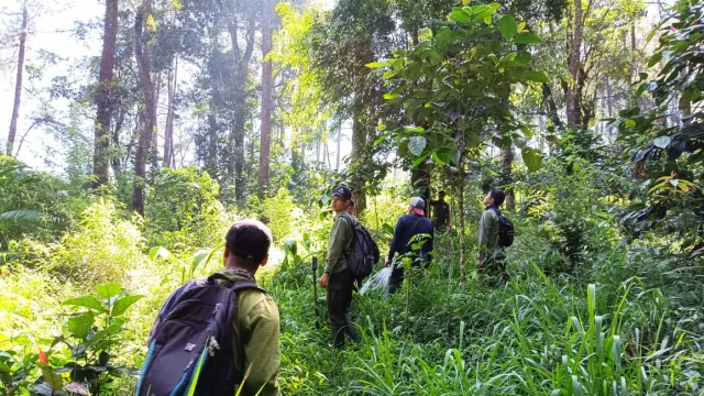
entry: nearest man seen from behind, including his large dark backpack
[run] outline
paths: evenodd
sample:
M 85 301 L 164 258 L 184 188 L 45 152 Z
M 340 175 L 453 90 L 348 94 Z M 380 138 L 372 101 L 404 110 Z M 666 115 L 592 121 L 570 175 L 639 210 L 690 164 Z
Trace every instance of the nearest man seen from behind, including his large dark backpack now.
M 150 334 L 139 396 L 193 395 L 193 387 L 195 395 L 280 395 L 278 308 L 254 278 L 271 244 L 262 222 L 237 221 L 226 237 L 224 270 L 168 297 Z

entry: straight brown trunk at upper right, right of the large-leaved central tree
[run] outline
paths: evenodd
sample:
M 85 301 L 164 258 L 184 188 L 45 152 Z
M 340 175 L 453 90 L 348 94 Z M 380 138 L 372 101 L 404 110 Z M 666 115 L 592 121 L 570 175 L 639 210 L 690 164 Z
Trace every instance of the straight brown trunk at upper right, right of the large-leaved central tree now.
M 582 0 L 574 0 L 574 31 L 572 40 L 569 43 L 568 70 L 570 73 L 570 81 L 564 87 L 564 99 L 566 101 L 568 127 L 581 125 L 580 117 L 580 98 L 578 92 L 580 70 L 582 69 Z

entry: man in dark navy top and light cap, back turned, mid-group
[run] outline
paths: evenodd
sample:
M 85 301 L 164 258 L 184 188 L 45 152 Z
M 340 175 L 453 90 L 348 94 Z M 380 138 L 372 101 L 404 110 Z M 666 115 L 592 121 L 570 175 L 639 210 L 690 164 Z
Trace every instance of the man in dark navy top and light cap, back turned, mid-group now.
M 394 229 L 394 239 L 388 250 L 388 256 L 386 258 L 386 266 L 394 263 L 394 256 L 398 253 L 399 256 L 410 256 L 413 258 L 413 266 L 418 267 L 422 263 L 424 266 L 428 266 L 431 260 L 432 252 L 432 239 L 435 238 L 435 228 L 432 222 L 425 216 L 426 201 L 421 197 L 414 197 L 408 206 L 408 215 L 403 216 L 396 222 L 396 229 Z M 413 244 L 416 242 L 414 237 L 427 235 L 426 242 L 420 246 L 420 256 L 413 252 Z M 410 241 L 414 240 L 414 243 Z M 404 283 L 404 267 L 403 265 L 395 264 L 389 279 L 388 293 L 394 293 Z

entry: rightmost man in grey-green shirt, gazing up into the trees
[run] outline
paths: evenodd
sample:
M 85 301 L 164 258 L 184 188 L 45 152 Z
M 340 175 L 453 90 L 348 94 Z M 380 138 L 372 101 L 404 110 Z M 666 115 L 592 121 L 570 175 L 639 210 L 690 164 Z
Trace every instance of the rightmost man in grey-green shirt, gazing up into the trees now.
M 492 189 L 484 197 L 482 204 L 485 210 L 480 220 L 479 254 L 476 256 L 479 271 L 502 284 L 508 279 L 505 262 L 506 251 L 499 241 L 499 216 L 502 213 L 498 208 L 504 204 L 505 198 L 504 191 L 498 189 Z

